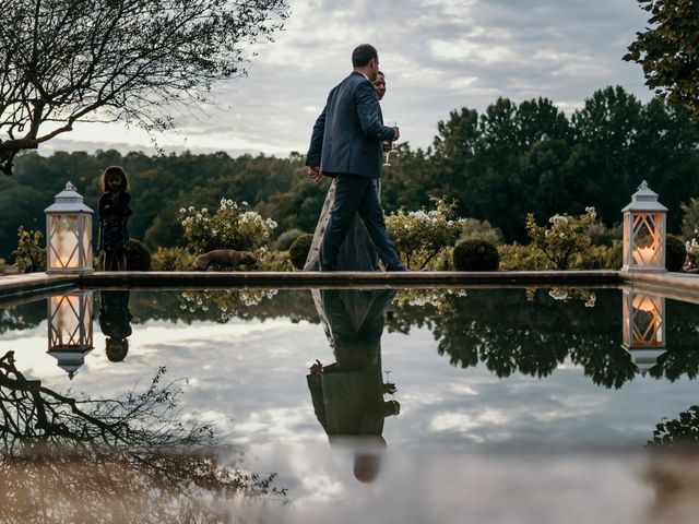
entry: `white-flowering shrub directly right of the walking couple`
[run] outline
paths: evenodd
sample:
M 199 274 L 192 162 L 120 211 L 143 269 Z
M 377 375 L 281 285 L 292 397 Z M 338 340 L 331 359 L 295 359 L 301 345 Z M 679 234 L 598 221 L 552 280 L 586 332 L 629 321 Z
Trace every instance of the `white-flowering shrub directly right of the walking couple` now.
M 386 217 L 386 227 L 398 252 L 408 269 L 423 269 L 430 260 L 452 247 L 465 225 L 465 218 L 454 217 L 455 204 L 431 199 L 435 209 L 400 210 Z

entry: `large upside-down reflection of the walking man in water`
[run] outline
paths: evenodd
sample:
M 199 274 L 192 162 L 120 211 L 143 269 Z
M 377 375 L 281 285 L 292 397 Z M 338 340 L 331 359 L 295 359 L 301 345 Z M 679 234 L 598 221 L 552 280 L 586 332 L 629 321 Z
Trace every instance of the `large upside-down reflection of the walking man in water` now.
M 313 299 L 323 321 L 335 362 L 316 360 L 307 376 L 318 421 L 333 444 L 352 439 L 367 449 L 355 455 L 354 474 L 363 483 L 374 480 L 384 448 L 383 419 L 400 413 L 400 404 L 383 400 L 395 385 L 381 377 L 383 310 L 395 291 L 321 290 Z M 358 440 L 358 442 L 356 442 Z M 374 450 L 371 450 L 374 448 Z

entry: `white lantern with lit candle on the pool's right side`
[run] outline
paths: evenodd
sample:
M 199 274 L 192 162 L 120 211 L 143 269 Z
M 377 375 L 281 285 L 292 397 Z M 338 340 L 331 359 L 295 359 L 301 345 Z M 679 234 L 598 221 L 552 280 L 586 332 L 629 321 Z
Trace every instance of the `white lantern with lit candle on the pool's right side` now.
M 624 265 L 621 271 L 665 270 L 667 207 L 657 202 L 645 180 L 624 212 Z

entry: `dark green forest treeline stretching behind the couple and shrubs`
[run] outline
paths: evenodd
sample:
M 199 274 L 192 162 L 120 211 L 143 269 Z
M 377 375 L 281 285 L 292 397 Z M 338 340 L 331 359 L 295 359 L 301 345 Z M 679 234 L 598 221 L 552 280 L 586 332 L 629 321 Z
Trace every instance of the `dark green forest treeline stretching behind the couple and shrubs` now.
M 523 242 L 528 213 L 544 222 L 594 206 L 606 225 L 618 223 L 645 179 L 670 209 L 673 233 L 680 227 L 680 204 L 699 194 L 698 145 L 696 118 L 657 99 L 643 104 L 619 86 L 595 92 L 569 116 L 546 98 L 499 98 L 482 114 L 452 111 L 437 123 L 426 150 L 400 144 L 384 168 L 381 198 L 391 213 L 446 196 L 458 201 L 459 216 L 488 221 L 506 241 Z M 276 235 L 312 233 L 329 181 L 309 180 L 304 162 L 296 152 L 287 158 L 27 153 L 16 158 L 14 176 L 0 178 L 0 257 L 10 258 L 19 226 L 44 230 L 44 209 L 68 180 L 96 209 L 99 174 L 115 164 L 131 177 L 131 235 L 152 249 L 183 245 L 180 207 L 216 209 L 223 196 L 276 221 Z

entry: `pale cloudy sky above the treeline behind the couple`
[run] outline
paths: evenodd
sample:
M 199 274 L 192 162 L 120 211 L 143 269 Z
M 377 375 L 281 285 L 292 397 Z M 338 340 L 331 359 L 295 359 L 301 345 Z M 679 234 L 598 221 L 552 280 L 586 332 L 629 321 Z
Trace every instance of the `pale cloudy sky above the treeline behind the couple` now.
M 650 98 L 639 66 L 621 61 L 647 13 L 635 0 L 289 0 L 276 41 L 256 47 L 248 75 L 221 85 L 217 105 L 179 115 L 158 138 L 167 153 L 305 153 L 330 88 L 351 70 L 352 49 L 379 50 L 387 120 L 426 147 L 439 120 L 497 97 L 547 97 L 567 112 L 594 91 L 621 85 Z M 147 135 L 118 124 L 82 124 L 43 146 L 154 153 Z

